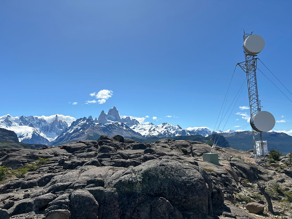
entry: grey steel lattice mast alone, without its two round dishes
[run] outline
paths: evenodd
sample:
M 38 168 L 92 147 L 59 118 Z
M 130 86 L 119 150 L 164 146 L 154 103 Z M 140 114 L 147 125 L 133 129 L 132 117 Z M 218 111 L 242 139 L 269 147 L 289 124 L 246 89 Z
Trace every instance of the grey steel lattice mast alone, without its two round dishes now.
M 245 41 L 251 34 L 244 32 L 243 40 Z M 258 99 L 258 87 L 256 81 L 256 69 L 257 69 L 257 55 L 251 55 L 244 50 L 245 62 L 240 62 L 239 65 L 244 72 L 246 72 L 247 85 L 248 85 L 248 98 L 251 117 L 261 111 L 260 101 Z M 253 147 L 256 163 L 265 163 L 265 153 L 263 148 L 263 135 L 262 132 L 256 131 L 252 128 L 253 134 Z

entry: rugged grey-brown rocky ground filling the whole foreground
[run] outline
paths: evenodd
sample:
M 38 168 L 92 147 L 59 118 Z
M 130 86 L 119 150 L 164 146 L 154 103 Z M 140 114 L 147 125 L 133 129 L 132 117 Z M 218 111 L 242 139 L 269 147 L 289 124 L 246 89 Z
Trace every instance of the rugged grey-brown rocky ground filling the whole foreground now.
M 232 148 L 217 148 L 220 164 L 215 165 L 202 159 L 210 149 L 202 142 L 143 144 L 120 135 L 3 149 L 1 166 L 17 169 L 39 157 L 49 162 L 24 178 L 10 171 L 0 182 L 0 218 L 292 218 L 292 169 L 283 163 L 256 165 L 250 154 Z M 275 215 L 267 212 L 258 182 L 267 185 Z

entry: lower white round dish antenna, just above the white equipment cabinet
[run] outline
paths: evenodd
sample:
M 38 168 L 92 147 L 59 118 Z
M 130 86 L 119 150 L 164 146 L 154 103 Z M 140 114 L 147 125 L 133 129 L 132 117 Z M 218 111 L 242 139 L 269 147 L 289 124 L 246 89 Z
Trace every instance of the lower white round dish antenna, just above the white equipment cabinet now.
M 275 126 L 274 116 L 267 111 L 260 111 L 251 116 L 251 127 L 258 132 L 267 132 Z

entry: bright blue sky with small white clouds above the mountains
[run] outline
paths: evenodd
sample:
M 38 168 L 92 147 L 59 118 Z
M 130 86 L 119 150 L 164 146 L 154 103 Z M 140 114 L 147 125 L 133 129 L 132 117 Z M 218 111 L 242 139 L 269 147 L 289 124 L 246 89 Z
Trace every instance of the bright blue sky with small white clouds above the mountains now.
M 292 91 L 291 4 L 1 1 L 0 116 L 95 118 L 115 106 L 144 122 L 217 129 L 234 67 L 244 61 L 243 29 L 265 39 L 258 58 Z M 292 100 L 260 62 L 258 68 Z M 226 108 L 245 78 L 237 67 Z M 292 102 L 259 71 L 257 79 L 276 131 L 292 130 Z M 233 106 L 219 129 L 251 130 L 242 118 L 249 109 L 239 108 L 248 106 L 246 84 Z

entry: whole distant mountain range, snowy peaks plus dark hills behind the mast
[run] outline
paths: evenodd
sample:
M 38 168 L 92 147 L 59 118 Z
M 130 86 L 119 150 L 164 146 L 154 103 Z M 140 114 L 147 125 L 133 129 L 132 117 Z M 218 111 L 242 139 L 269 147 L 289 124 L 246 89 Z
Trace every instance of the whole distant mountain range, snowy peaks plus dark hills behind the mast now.
M 127 138 L 140 139 L 141 142 L 150 142 L 159 138 L 174 138 L 176 136 L 210 136 L 214 133 L 221 134 L 229 142 L 230 147 L 249 150 L 252 149 L 252 133 L 249 131 L 234 132 L 228 130 L 211 131 L 208 128 L 187 128 L 179 125 L 162 123 L 160 125 L 140 124 L 136 119 L 120 117 L 116 107 L 109 109 L 107 113 L 102 110 L 98 118 L 83 117 L 73 121 L 68 126 L 62 115 L 55 115 L 53 119 L 46 120 L 42 117 L 11 117 L 9 114 L 0 117 L 0 128 L 14 131 L 20 142 L 36 143 L 44 145 L 61 145 L 67 142 L 79 140 L 96 140 L 100 135 L 122 135 Z M 264 139 L 268 141 L 268 147 L 289 152 L 292 146 L 292 136 L 285 133 L 265 132 Z M 149 140 L 145 140 L 149 139 Z

